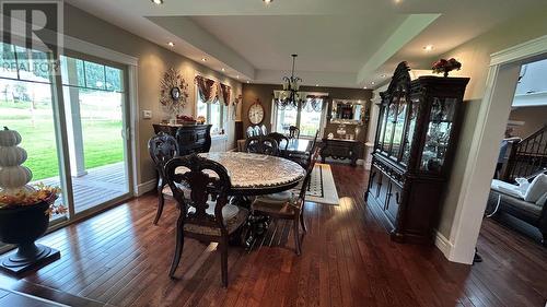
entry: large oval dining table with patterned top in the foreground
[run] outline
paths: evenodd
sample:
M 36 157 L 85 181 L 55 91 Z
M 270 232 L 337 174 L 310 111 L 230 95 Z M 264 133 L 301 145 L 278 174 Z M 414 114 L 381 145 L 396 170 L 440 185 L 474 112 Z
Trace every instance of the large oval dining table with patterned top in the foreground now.
M 305 170 L 290 160 L 243 152 L 210 152 L 199 154 L 220 163 L 230 176 L 231 203 L 251 209 L 252 197 L 292 189 L 304 178 Z M 264 235 L 269 217 L 251 214 L 240 235 L 240 244 L 251 249 Z

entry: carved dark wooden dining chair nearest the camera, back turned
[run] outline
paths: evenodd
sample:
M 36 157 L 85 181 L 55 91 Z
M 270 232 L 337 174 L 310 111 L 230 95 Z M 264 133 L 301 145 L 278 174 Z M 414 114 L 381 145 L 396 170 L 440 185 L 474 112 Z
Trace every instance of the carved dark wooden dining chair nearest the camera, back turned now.
M 216 241 L 220 250 L 222 284 L 228 287 L 229 238 L 245 223 L 248 210 L 229 203 L 232 185 L 226 168 L 214 161 L 191 154 L 167 162 L 165 175 L 179 210 L 170 276 L 174 276 L 181 262 L 186 237 Z M 189 199 L 185 198 L 181 189 L 184 184 L 191 190 Z

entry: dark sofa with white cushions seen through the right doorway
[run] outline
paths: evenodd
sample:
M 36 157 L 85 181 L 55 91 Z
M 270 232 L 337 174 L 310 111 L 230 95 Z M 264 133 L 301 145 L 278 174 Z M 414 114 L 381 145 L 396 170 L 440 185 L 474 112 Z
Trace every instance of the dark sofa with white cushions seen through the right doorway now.
M 542 233 L 542 244 L 547 246 L 547 175 L 544 173 L 522 179 L 520 185 L 492 180 L 486 215 L 496 219 L 501 213 L 510 214 L 536 227 Z M 533 185 L 535 196 L 531 196 Z

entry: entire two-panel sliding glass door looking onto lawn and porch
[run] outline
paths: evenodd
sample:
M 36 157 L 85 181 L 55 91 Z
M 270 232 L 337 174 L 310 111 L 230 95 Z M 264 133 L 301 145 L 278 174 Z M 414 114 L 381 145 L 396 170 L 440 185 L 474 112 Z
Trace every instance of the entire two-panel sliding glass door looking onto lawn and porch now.
M 0 126 L 18 130 L 32 184 L 59 186 L 75 219 L 128 198 L 127 68 L 61 56 L 60 76 L 40 70 L 48 55 L 1 45 Z

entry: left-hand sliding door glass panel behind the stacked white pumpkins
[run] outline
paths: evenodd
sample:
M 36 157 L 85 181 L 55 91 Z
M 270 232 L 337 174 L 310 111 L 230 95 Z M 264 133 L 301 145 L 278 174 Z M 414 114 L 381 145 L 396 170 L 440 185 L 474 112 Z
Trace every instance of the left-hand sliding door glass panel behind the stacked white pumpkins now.
M 22 135 L 20 146 L 27 152 L 24 165 L 33 173 L 30 184 L 60 186 L 55 79 L 40 66 L 47 60 L 47 54 L 3 43 L 1 49 L 0 126 Z M 65 192 L 57 202 L 67 203 Z M 51 216 L 54 221 L 65 219 Z

